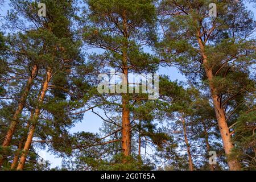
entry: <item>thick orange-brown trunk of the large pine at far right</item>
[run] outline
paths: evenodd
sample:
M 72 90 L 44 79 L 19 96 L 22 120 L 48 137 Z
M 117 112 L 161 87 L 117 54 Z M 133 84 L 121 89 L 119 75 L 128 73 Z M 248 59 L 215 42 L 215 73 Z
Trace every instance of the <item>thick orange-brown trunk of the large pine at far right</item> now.
M 204 43 L 203 41 L 200 39 L 200 32 L 197 35 L 198 36 L 198 42 L 199 42 L 199 46 L 200 46 L 200 51 L 201 51 L 201 55 L 203 56 L 203 65 L 204 65 L 204 69 L 207 75 L 207 78 L 209 80 L 209 88 L 210 88 L 210 93 L 211 93 L 211 97 L 213 100 L 213 105 L 214 105 L 214 110 L 215 110 L 215 114 L 216 114 L 216 118 L 218 121 L 218 127 L 220 129 L 220 133 L 221 133 L 221 139 L 223 142 L 223 147 L 225 150 L 225 154 L 228 157 L 228 165 L 229 165 L 229 169 L 231 171 L 237 171 L 240 170 L 240 163 L 238 162 L 237 159 L 230 159 L 229 155 L 232 152 L 232 149 L 234 148 L 233 143 L 232 143 L 232 139 L 231 139 L 231 135 L 229 133 L 229 127 L 226 123 L 226 115 L 225 115 L 225 111 L 223 110 L 222 106 L 221 106 L 221 100 L 218 97 L 218 93 L 216 91 L 215 86 L 213 85 L 213 73 L 212 73 L 212 68 L 209 68 L 208 66 L 208 60 L 207 60 L 207 55 L 205 55 L 205 50 L 204 50 Z

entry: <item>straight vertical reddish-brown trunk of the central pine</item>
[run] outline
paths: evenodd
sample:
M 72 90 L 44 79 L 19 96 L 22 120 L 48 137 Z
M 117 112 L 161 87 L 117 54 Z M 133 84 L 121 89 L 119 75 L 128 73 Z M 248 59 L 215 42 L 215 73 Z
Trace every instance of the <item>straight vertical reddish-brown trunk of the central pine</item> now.
M 126 12 L 123 12 L 123 32 L 124 36 L 126 38 L 126 41 L 128 41 L 128 35 L 127 35 L 127 18 L 126 18 Z M 125 76 L 123 78 L 123 84 L 128 86 L 128 68 L 127 68 L 127 42 L 123 45 L 123 51 L 122 51 L 122 71 L 123 75 Z M 131 125 L 130 125 L 130 109 L 129 109 L 129 94 L 122 93 L 122 150 L 123 154 L 125 156 L 131 155 Z

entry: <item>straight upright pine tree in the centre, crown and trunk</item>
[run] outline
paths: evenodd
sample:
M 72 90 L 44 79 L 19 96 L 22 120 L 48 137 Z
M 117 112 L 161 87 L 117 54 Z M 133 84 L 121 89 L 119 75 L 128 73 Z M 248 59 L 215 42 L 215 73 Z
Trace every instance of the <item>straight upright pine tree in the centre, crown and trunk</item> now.
M 131 72 L 154 72 L 154 57 L 142 50 L 142 45 L 149 45 L 154 38 L 155 8 L 152 1 L 90 0 L 86 3 L 88 26 L 84 27 L 83 38 L 88 47 L 105 51 L 100 55 L 105 67 L 123 73 L 123 85 L 129 85 L 128 75 Z M 121 142 L 123 155 L 129 156 L 132 98 L 127 93 L 127 87 L 123 90 L 126 91 L 119 95 L 122 108 Z

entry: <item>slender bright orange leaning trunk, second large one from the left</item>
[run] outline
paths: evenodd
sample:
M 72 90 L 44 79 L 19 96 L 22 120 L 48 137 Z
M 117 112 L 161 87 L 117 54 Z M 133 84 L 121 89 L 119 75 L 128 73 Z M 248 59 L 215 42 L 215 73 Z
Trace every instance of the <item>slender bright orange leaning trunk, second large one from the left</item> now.
M 27 159 L 27 154 L 28 154 L 28 151 L 29 151 L 31 143 L 32 143 L 33 135 L 35 133 L 36 123 L 38 122 L 38 118 L 39 118 L 39 115 L 40 115 L 40 107 L 43 104 L 44 97 L 46 96 L 46 92 L 47 92 L 47 89 L 48 89 L 49 81 L 51 80 L 51 72 L 52 72 L 51 69 L 48 69 L 46 80 L 44 81 L 44 84 L 43 84 L 43 88 L 42 88 L 42 91 L 41 91 L 41 94 L 40 94 L 40 98 L 38 100 L 38 106 L 35 110 L 35 115 L 34 115 L 34 118 L 32 119 L 32 122 L 31 122 L 32 125 L 30 127 L 30 131 L 28 133 L 27 140 L 24 144 L 24 148 L 23 148 L 23 151 L 22 151 L 22 156 L 20 157 L 17 170 L 23 170 L 23 168 L 24 168 L 24 164 L 25 164 L 26 159 Z

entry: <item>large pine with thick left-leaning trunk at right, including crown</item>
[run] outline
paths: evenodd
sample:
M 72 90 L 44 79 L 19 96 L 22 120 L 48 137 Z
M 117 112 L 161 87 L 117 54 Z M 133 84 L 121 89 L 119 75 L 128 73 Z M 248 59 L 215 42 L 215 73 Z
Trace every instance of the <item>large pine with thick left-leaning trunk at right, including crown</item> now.
M 255 63 L 254 43 L 249 38 L 255 23 L 242 2 L 214 1 L 217 17 L 213 18 L 209 18 L 209 3 L 163 1 L 159 10 L 165 28 L 159 52 L 167 63 L 179 64 L 187 76 L 195 73 L 199 75 L 196 81 L 207 82 L 229 168 L 240 170 L 238 159 L 230 158 L 234 145 L 226 109 L 232 100 L 253 92 L 248 66 Z

